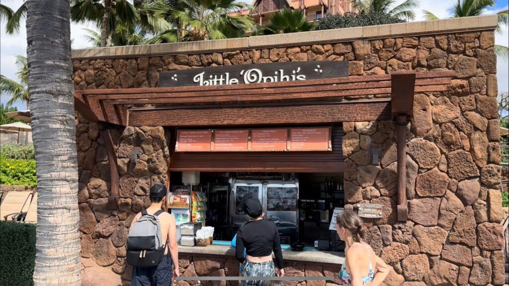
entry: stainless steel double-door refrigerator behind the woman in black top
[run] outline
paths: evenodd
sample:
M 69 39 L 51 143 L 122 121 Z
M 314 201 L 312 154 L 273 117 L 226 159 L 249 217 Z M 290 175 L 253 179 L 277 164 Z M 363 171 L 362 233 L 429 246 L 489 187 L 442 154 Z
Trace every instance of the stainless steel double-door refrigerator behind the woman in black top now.
M 274 221 L 282 244 L 290 244 L 298 239 L 299 198 L 298 179 L 277 180 L 236 180 L 232 179 L 232 222 L 234 230 L 247 222 L 242 212 L 240 199 L 247 193 L 254 193 L 262 202 L 265 219 Z

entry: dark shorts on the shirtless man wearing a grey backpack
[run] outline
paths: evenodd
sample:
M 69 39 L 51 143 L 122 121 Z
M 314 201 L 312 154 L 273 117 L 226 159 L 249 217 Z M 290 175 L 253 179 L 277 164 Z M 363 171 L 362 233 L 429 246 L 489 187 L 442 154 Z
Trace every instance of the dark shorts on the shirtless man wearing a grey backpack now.
M 168 254 L 154 267 L 133 267 L 131 286 L 171 286 L 172 258 Z

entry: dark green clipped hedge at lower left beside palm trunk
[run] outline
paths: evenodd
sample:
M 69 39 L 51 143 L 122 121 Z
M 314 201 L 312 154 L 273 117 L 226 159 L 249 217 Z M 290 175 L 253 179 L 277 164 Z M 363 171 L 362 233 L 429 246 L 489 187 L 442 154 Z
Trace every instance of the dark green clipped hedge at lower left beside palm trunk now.
M 0 285 L 34 285 L 35 224 L 0 221 Z

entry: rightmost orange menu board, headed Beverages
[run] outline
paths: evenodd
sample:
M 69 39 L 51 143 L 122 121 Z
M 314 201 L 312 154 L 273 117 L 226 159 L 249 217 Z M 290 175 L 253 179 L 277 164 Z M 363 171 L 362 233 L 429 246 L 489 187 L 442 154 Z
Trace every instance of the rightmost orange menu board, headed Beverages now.
M 290 151 L 329 151 L 330 128 L 290 129 Z

